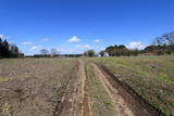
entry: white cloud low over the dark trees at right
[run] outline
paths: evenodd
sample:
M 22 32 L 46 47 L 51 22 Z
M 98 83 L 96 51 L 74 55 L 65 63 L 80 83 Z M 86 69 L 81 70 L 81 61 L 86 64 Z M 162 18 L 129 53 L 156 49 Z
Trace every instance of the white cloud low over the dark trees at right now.
M 139 49 L 139 50 L 145 48 L 145 46 L 142 46 L 141 42 L 136 42 L 136 41 L 133 41 L 133 42 L 128 43 L 128 46 L 126 46 L 126 47 L 128 49 Z

